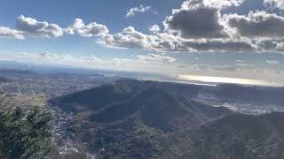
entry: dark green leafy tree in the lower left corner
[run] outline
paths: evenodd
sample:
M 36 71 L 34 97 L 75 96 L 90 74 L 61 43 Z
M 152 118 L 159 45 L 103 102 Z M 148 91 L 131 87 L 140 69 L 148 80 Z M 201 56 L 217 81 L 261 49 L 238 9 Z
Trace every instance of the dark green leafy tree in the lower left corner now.
M 51 149 L 51 113 L 18 107 L 0 112 L 0 158 L 44 158 Z

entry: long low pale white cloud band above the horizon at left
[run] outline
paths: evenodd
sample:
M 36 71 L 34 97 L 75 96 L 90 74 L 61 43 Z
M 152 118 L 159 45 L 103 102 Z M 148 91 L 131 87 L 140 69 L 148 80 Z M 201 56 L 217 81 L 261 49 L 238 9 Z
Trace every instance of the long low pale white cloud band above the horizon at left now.
M 31 52 L 10 52 L 0 53 L 0 59 L 9 61 L 18 61 L 28 64 L 57 64 L 85 68 L 102 68 L 114 70 L 148 71 L 160 72 L 164 64 L 173 63 L 172 57 L 149 54 L 139 55 L 133 58 L 113 57 L 100 58 L 96 56 L 75 57 L 69 54 L 54 54 L 51 52 L 31 53 Z M 158 70 L 156 70 L 158 69 Z

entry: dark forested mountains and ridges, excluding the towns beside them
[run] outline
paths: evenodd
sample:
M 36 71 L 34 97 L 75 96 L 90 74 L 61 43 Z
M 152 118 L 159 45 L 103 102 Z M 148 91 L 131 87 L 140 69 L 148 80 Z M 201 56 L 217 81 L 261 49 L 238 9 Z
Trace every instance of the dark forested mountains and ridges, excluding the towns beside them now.
M 268 92 L 278 95 L 283 91 L 283 88 L 261 91 L 259 87 L 233 86 L 205 87 L 120 79 L 112 85 L 61 96 L 51 103 L 77 113 L 69 131 L 75 133 L 75 140 L 87 143 L 88 150 L 101 157 L 283 157 L 284 125 L 281 123 L 284 113 L 248 116 L 191 100 L 200 92 L 248 99 L 246 95 L 239 95 L 241 91 L 248 92 L 247 95 Z M 230 87 L 234 93 L 229 91 Z M 252 96 L 252 100 L 257 97 Z

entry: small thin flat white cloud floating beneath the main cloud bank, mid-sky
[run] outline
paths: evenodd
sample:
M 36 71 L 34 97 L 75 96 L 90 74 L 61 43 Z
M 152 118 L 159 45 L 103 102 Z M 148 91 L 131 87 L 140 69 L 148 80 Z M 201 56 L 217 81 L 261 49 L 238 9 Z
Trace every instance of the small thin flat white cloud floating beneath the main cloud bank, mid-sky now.
M 162 56 L 158 54 L 149 54 L 149 55 L 138 55 L 140 60 L 144 60 L 146 62 L 154 62 L 154 63 L 173 63 L 176 61 L 173 57 Z

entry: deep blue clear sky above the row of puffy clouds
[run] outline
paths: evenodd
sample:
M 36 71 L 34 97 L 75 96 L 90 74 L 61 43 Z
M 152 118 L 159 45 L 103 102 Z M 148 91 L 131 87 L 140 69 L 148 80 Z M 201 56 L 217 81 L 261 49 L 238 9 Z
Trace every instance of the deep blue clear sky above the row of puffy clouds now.
M 135 19 L 125 19 L 126 11 L 140 4 L 153 6 L 154 11 L 159 14 L 147 13 L 143 16 L 138 15 Z M 80 18 L 86 23 L 92 21 L 104 23 L 113 32 L 119 32 L 130 25 L 137 27 L 138 30 L 146 31 L 147 27 L 144 26 L 161 22 L 166 15 L 171 13 L 171 9 L 178 8 L 180 4 L 182 4 L 180 0 L 2 0 L 0 23 L 14 27 L 15 19 L 20 15 L 25 15 L 67 26 L 75 18 Z

